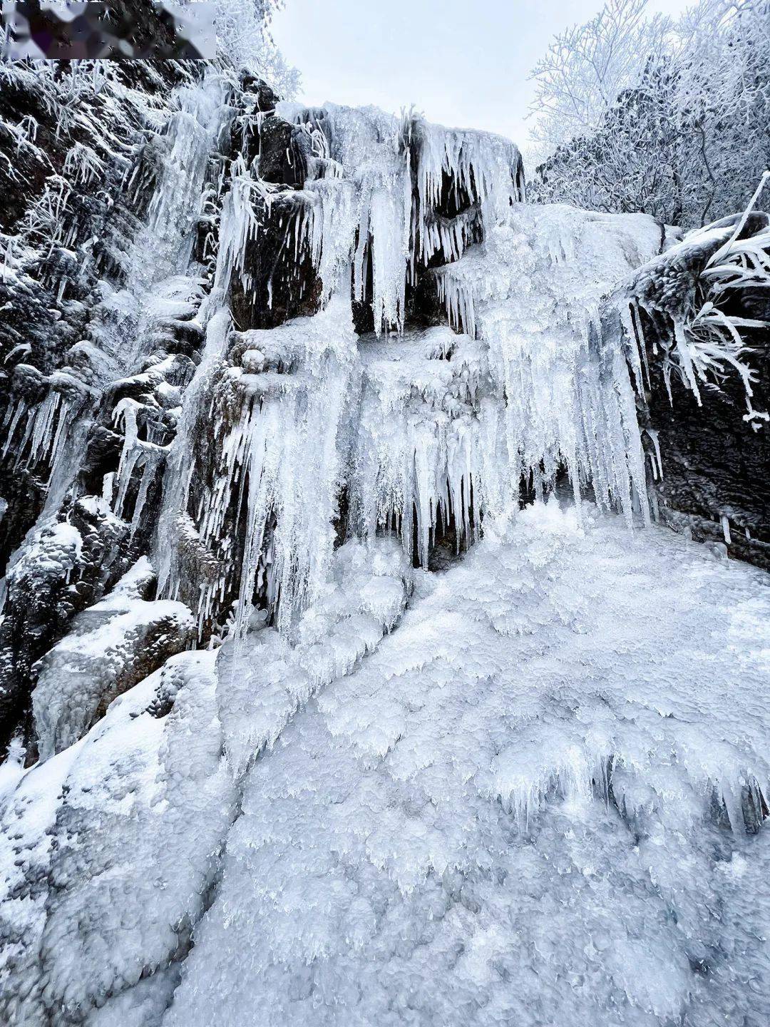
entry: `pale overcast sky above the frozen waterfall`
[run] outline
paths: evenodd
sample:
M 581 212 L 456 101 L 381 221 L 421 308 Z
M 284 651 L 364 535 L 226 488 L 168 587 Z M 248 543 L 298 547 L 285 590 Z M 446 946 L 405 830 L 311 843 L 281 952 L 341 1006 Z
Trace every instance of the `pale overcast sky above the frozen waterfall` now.
M 679 14 L 692 0 L 651 0 Z M 526 144 L 528 75 L 554 33 L 602 0 L 285 0 L 273 35 L 303 103 L 328 100 L 486 128 Z

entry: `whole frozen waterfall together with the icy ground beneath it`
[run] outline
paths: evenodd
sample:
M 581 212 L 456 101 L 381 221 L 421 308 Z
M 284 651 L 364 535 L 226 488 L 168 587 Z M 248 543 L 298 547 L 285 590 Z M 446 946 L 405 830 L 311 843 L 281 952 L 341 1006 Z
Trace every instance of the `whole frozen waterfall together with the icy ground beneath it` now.
M 6 609 L 64 626 L 0 773 L 0 1014 L 762 1027 L 768 580 L 650 526 L 638 410 L 655 311 L 693 392 L 750 391 L 666 304 L 766 240 L 530 206 L 498 137 L 272 100 L 209 67 L 145 111 L 83 338 L 10 351 L 47 484 Z M 113 164 L 66 168 L 20 295 Z

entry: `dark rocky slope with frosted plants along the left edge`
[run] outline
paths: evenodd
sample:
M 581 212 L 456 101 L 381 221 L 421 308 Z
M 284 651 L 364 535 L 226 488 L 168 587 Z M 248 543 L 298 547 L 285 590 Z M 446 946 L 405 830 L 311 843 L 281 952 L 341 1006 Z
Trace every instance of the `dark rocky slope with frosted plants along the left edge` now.
M 146 547 L 152 529 L 149 520 L 131 531 L 95 497 L 105 474 L 114 473 L 120 460 L 123 434 L 115 430 L 116 406 L 121 400 L 150 398 L 160 383 L 145 378 L 118 382 L 114 388 L 98 386 L 98 347 L 85 340 L 99 303 L 124 282 L 120 256 L 147 217 L 157 175 L 159 137 L 144 124 L 136 105 L 116 97 L 136 89 L 158 109 L 163 103 L 158 98 L 201 71 L 197 63 L 123 64 L 111 67 L 114 90 L 98 66 L 92 78 L 74 78 L 66 63 L 51 64 L 44 73 L 23 65 L 1 73 L 0 231 L 5 234 L 0 239 L 3 252 L 11 254 L 11 273 L 0 275 L 5 372 L 0 379 L 0 492 L 5 501 L 0 572 L 6 573 L 7 584 L 0 625 L 0 748 L 20 727 L 25 743 L 32 743 L 36 661 L 66 634 L 73 616 L 112 587 Z M 77 119 L 72 117 L 76 112 Z M 101 331 L 108 346 L 117 327 L 115 318 L 105 317 Z M 200 331 L 172 325 L 164 341 L 164 355 L 179 354 L 175 381 L 184 385 L 185 375 L 190 377 L 186 369 L 194 369 L 192 357 L 201 345 Z M 78 449 L 73 454 L 75 498 L 51 511 L 53 533 L 44 529 L 37 549 L 33 543 L 33 553 L 42 558 L 35 565 L 20 561 L 16 550 L 51 487 L 53 453 L 48 443 L 37 445 L 37 422 L 32 420 L 45 403 L 51 410 L 44 425 L 49 441 L 57 424 L 60 431 L 66 427 L 65 409 L 70 411 L 68 423 L 80 417 L 82 428 L 68 441 Z M 166 421 L 172 428 L 172 417 Z M 162 432 L 156 439 L 162 443 Z M 153 496 L 157 498 L 151 485 L 150 505 Z M 136 490 L 128 500 L 136 501 Z M 57 525 L 64 528 L 62 537 L 69 532 L 75 540 L 72 553 L 59 545 Z

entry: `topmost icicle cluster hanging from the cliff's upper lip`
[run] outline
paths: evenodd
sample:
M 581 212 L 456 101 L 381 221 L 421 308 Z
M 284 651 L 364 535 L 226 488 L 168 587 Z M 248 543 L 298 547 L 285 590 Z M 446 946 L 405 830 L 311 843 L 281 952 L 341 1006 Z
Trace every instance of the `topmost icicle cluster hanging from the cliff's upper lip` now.
M 352 255 L 353 295 L 363 301 L 371 289 L 378 335 L 402 331 L 418 260 L 457 260 L 479 216 L 492 226 L 524 199 L 521 156 L 500 137 L 375 108 L 281 104 L 278 112 L 311 141 L 305 231 L 324 293 Z M 441 215 L 442 198 L 455 217 Z

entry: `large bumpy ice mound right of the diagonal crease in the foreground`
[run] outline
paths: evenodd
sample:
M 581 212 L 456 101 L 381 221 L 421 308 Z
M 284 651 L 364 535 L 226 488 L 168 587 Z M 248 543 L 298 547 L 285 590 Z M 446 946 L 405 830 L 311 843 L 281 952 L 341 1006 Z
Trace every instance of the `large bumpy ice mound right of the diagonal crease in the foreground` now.
M 766 1022 L 769 613 L 668 532 L 500 519 L 254 765 L 165 1027 Z

